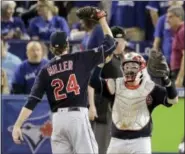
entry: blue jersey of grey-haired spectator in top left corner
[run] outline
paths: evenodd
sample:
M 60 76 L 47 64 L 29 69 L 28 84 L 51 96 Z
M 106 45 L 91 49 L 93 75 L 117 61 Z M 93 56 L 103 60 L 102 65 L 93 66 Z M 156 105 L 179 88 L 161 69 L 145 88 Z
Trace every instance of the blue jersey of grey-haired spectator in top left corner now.
M 22 33 L 26 33 L 24 22 L 19 17 L 13 17 L 11 21 L 1 21 L 1 34 L 7 35 L 8 32 L 19 29 Z

